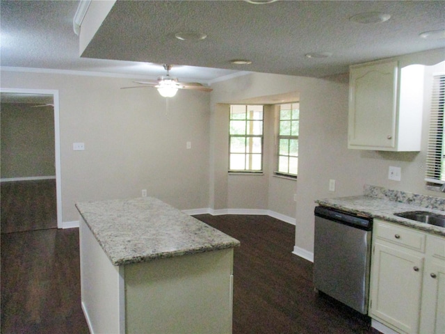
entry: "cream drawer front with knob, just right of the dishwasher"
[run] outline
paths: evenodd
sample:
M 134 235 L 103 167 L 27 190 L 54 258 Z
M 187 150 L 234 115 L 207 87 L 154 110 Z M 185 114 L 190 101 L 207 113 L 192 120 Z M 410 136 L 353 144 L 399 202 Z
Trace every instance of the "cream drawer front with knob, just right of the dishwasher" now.
M 374 223 L 375 237 L 390 241 L 393 244 L 419 250 L 419 252 L 422 253 L 425 252 L 425 234 L 398 225 L 382 223 L 380 221 L 374 221 Z

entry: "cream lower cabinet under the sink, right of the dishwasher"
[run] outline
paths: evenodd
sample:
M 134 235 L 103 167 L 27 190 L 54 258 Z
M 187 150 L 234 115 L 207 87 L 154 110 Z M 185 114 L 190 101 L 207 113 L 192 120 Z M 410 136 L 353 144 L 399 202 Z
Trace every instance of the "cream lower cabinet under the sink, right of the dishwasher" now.
M 399 333 L 445 333 L 445 238 L 374 220 L 369 315 Z

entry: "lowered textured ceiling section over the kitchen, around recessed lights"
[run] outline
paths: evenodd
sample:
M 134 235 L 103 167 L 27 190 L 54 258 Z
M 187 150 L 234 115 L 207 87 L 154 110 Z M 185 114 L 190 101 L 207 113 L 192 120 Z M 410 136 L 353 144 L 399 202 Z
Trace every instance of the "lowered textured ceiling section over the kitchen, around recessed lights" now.
M 350 17 L 383 12 L 359 24 Z M 87 14 L 88 15 L 88 14 Z M 348 65 L 444 46 L 419 37 L 444 29 L 444 1 L 118 1 L 83 56 L 323 77 Z M 208 37 L 181 41 L 175 33 Z M 307 58 L 330 52 L 330 58 Z M 242 67 L 231 59 L 247 58 Z

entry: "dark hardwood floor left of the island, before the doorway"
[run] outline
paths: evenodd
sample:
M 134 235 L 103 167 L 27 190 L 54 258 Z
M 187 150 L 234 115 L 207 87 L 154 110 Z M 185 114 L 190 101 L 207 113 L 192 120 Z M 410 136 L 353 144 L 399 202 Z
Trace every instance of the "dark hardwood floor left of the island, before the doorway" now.
M 89 333 L 79 270 L 76 228 L 1 234 L 1 333 Z

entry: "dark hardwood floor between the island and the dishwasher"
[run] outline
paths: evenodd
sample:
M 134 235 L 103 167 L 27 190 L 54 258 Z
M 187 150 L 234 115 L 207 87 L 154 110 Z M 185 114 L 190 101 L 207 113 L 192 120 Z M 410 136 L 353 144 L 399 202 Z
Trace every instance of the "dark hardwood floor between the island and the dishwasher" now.
M 234 252 L 233 333 L 380 333 L 314 292 L 312 262 L 293 255 L 295 226 L 269 216 L 195 218 L 241 241 Z

